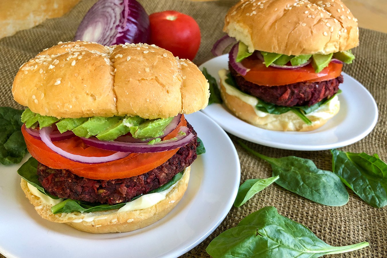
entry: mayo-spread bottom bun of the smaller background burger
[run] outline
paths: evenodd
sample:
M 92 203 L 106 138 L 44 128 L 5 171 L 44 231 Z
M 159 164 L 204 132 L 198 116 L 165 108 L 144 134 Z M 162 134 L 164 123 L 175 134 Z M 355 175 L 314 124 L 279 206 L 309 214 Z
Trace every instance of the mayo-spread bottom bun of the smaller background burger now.
M 312 121 L 311 125 L 307 125 L 299 116 L 291 111 L 283 114 L 269 114 L 258 111 L 263 114 L 263 116 L 258 116 L 255 107 L 246 103 L 238 96 L 231 95 L 227 92 L 226 87 L 232 86 L 224 85 L 225 71 L 227 70 L 219 71 L 219 77 L 221 78 L 220 92 L 224 104 L 235 116 L 260 128 L 276 131 L 311 131 L 324 125 L 339 112 L 339 101 L 332 99 L 330 103 L 325 104 L 327 106 L 324 105 L 324 110 L 320 110 L 320 108 L 306 115 Z

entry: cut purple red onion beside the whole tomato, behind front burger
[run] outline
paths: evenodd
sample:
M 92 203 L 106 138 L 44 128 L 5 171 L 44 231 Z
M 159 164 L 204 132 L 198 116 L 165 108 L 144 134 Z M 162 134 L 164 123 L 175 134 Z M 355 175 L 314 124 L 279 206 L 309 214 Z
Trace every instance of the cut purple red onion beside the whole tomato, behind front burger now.
M 148 43 L 149 16 L 135 0 L 99 0 L 80 23 L 75 40 L 102 45 Z

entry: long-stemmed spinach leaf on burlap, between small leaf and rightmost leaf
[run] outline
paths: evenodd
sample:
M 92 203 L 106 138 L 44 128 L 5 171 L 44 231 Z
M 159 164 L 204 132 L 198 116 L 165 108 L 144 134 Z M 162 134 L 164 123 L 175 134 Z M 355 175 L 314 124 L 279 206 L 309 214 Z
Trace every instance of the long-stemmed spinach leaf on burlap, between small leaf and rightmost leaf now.
M 276 184 L 313 202 L 327 206 L 341 206 L 349 195 L 340 178 L 334 173 L 321 170 L 310 159 L 295 156 L 271 158 L 238 142 L 251 154 L 269 162 L 273 176 L 279 176 Z

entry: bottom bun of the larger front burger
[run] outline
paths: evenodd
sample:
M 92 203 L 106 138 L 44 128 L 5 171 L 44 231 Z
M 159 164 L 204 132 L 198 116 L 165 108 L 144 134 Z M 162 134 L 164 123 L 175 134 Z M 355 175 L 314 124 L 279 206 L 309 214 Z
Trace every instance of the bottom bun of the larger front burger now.
M 75 229 L 89 233 L 128 232 L 149 226 L 168 214 L 168 212 L 170 212 L 180 201 L 187 190 L 190 170 L 190 167 L 185 169 L 183 177 L 166 195 L 164 200 L 149 208 L 130 212 L 117 212 L 117 210 L 111 210 L 87 214 L 79 212 L 53 214 L 51 212 L 51 205 L 42 202 L 41 198 L 31 193 L 26 180 L 21 180 L 21 187 L 28 200 L 34 205 L 36 212 L 38 212 L 43 219 L 52 222 L 66 223 Z M 93 217 L 92 220 L 83 220 L 85 218 L 90 218 L 91 216 Z M 74 220 L 80 220 L 80 222 L 74 222 Z

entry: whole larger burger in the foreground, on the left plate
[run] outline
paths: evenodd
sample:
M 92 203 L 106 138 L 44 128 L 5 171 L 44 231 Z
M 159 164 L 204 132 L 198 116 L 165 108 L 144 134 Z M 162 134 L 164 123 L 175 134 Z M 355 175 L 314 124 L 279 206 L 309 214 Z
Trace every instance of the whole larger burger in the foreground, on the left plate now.
M 155 45 L 60 42 L 21 66 L 12 93 L 28 107 L 21 187 L 44 219 L 127 232 L 182 198 L 202 149 L 184 114 L 209 97 L 189 60 Z

